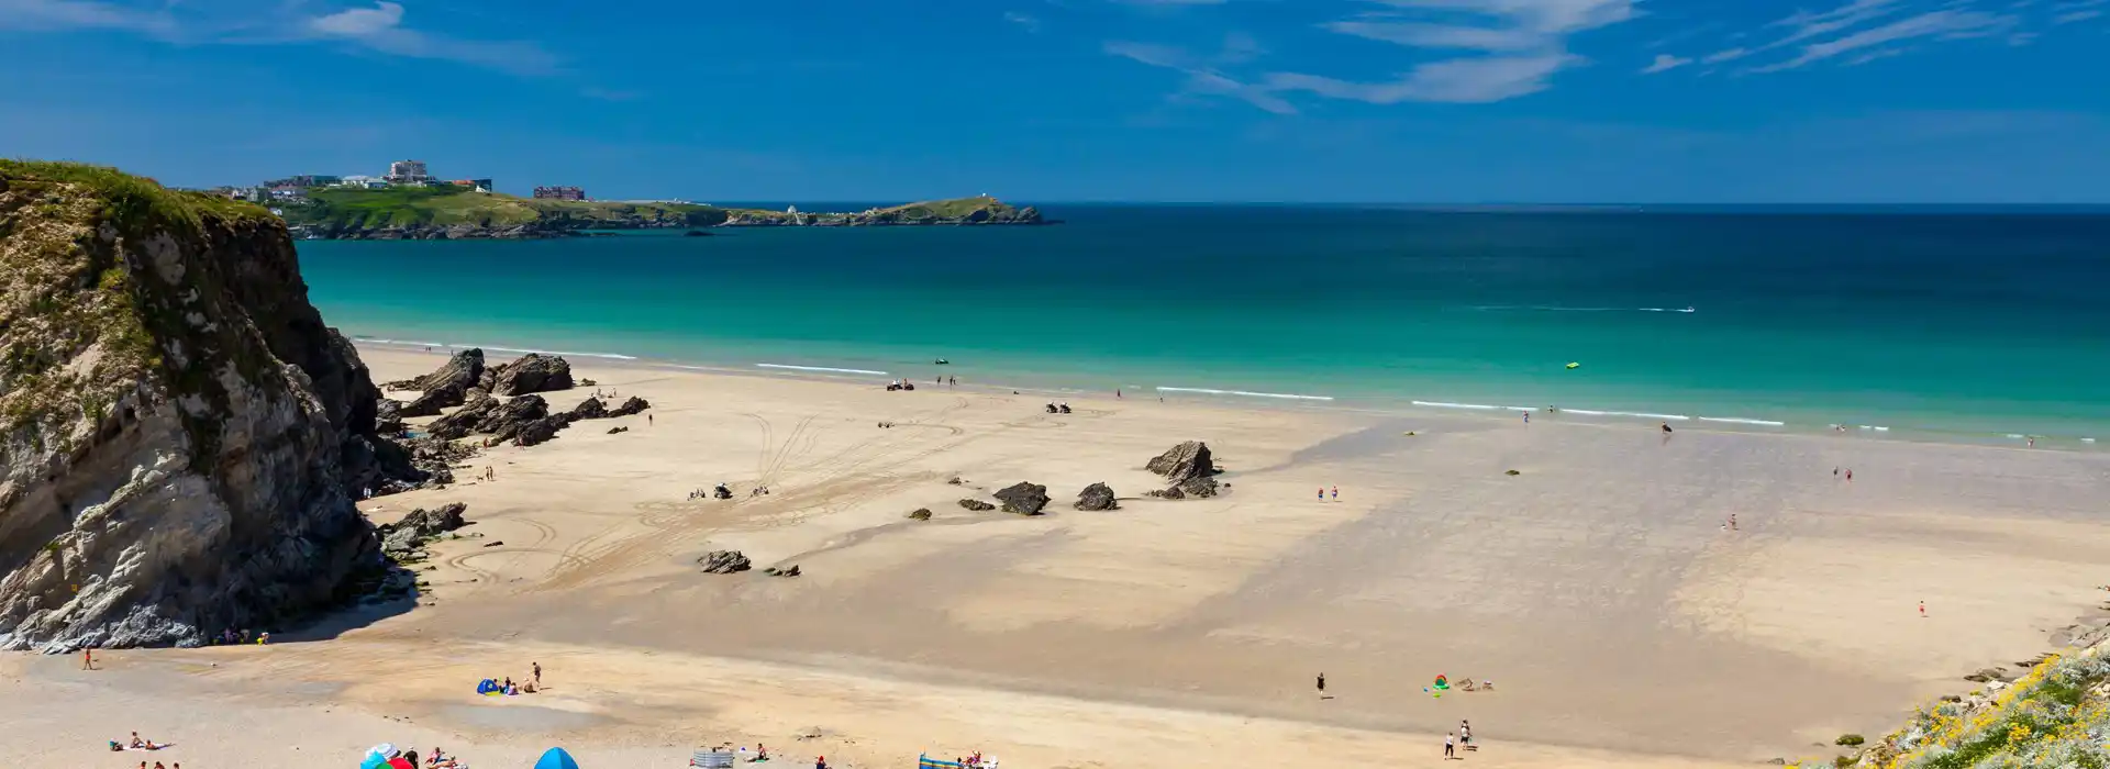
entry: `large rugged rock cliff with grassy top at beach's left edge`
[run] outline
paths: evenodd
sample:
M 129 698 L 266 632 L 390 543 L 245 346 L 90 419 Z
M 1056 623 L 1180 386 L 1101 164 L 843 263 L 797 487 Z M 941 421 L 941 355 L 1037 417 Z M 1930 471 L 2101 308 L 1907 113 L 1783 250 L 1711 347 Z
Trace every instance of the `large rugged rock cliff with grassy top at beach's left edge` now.
M 380 565 L 378 390 L 262 209 L 0 160 L 0 647 L 192 645 Z

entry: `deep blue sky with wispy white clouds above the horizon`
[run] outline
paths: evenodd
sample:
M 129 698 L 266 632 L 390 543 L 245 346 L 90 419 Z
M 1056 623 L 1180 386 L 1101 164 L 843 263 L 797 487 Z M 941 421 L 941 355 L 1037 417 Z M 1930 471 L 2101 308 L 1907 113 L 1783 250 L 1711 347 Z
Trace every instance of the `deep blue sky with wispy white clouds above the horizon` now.
M 2110 0 L 0 0 L 0 154 L 601 198 L 2110 202 Z

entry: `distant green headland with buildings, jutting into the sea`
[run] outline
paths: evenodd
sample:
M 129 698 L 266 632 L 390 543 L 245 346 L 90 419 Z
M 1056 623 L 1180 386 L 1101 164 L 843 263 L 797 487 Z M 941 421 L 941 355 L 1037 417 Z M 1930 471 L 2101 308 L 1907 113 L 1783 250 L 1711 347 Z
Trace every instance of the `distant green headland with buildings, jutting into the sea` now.
M 295 238 L 462 240 L 568 238 L 599 230 L 1042 225 L 1034 206 L 990 196 L 865 211 L 764 211 L 694 202 L 517 198 L 473 188 L 327 188 L 274 206 Z

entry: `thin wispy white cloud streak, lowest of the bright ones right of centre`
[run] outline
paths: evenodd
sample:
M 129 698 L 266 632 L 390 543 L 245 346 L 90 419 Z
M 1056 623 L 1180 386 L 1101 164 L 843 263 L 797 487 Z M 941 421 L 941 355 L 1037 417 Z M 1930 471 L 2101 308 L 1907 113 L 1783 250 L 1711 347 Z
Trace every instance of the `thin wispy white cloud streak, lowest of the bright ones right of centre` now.
M 1268 91 L 1308 91 L 1321 97 L 1369 103 L 1488 103 L 1545 91 L 1547 78 L 1574 63 L 1574 59 L 1566 53 L 1445 59 L 1418 65 L 1405 76 L 1386 82 L 1353 82 L 1298 72 L 1274 72 L 1268 74 L 1266 86 Z

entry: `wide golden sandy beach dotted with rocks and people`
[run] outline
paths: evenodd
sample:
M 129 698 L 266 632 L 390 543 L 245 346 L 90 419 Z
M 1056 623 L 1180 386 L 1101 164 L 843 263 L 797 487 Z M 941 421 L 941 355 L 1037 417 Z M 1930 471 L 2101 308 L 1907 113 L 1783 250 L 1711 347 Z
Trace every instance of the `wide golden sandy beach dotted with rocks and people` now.
M 361 354 L 376 379 L 443 360 Z M 1469 718 L 1475 765 L 1728 767 L 1827 758 L 2110 615 L 2102 453 L 1110 394 L 1049 415 L 880 377 L 574 364 L 652 419 L 363 506 L 468 504 L 416 607 L 97 672 L 0 657 L 0 765 L 350 765 L 395 742 L 679 767 L 760 742 L 840 767 L 1416 767 Z M 1230 489 L 1144 497 L 1144 461 L 1190 438 Z M 1047 516 L 956 504 L 1019 480 L 1049 487 Z M 1123 508 L 1072 510 L 1099 480 Z M 688 499 L 717 482 L 736 499 Z M 703 575 L 709 550 L 757 571 Z M 549 691 L 473 693 L 532 662 Z M 1435 697 L 1437 674 L 1498 687 Z M 129 731 L 177 746 L 101 748 Z

